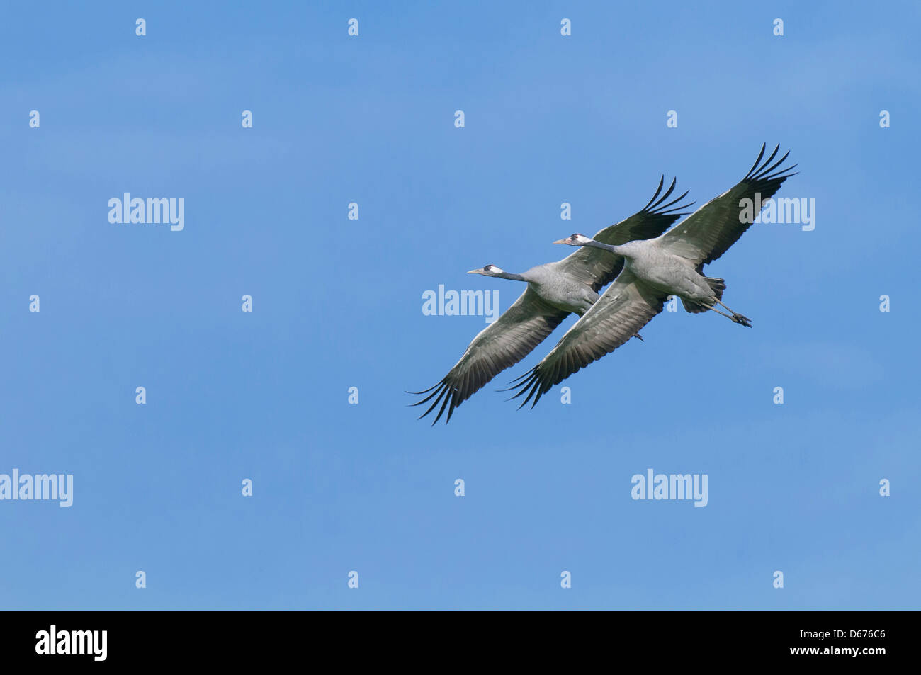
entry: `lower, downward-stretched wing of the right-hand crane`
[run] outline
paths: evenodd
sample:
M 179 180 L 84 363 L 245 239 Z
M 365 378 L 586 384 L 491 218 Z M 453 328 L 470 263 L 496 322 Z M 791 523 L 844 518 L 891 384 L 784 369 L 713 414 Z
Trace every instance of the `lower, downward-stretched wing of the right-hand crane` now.
M 521 381 L 510 388 L 519 390 L 512 399 L 527 392 L 528 397 L 519 408 L 532 397 L 534 402 L 530 407 L 533 408 L 555 384 L 632 338 L 662 311 L 667 297 L 667 294 L 638 283 L 634 274 L 625 270 L 589 311 L 565 332 L 550 354 L 518 378 Z

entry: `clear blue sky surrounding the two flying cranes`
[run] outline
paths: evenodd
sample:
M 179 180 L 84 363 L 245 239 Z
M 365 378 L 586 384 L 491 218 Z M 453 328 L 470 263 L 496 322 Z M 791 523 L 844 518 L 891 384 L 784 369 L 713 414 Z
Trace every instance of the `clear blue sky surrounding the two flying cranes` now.
M 0 607 L 917 609 L 918 6 L 394 5 L 5 9 L 0 473 L 75 495 L 0 502 Z M 484 327 L 427 289 L 504 309 L 465 272 L 562 258 L 662 173 L 703 204 L 764 142 L 816 227 L 707 268 L 752 330 L 663 312 L 517 411 L 571 318 L 449 425 L 405 407 Z M 109 223 L 123 192 L 185 228 Z M 708 505 L 631 499 L 648 468 Z

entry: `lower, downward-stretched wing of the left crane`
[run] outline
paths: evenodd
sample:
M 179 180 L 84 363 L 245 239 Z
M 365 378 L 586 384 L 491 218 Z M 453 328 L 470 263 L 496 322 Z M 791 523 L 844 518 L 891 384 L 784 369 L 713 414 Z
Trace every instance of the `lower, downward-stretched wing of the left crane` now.
M 425 391 L 410 392 L 432 392 L 413 405 L 422 405 L 435 398 L 435 402 L 419 416 L 419 419 L 431 413 L 437 404 L 441 403 L 432 425 L 441 418 L 447 406 L 448 418 L 445 423 L 450 422 L 455 408 L 482 389 L 498 373 L 529 355 L 531 350 L 542 343 L 568 315 L 569 312 L 564 309 L 554 308 L 544 302 L 529 286 L 501 317 L 473 338 L 461 360 L 437 385 Z

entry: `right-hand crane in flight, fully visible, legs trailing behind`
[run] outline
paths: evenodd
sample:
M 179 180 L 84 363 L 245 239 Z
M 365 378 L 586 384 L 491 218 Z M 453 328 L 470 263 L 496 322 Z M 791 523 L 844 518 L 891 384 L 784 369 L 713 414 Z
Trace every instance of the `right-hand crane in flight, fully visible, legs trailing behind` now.
M 531 399 L 533 408 L 551 387 L 630 340 L 659 314 L 670 296 L 680 297 L 689 312 L 714 311 L 751 328 L 752 320 L 723 304 L 725 279 L 705 276 L 704 265 L 716 261 L 752 226 L 756 214 L 746 211 L 744 200 L 753 204 L 759 194 L 762 200 L 769 199 L 798 173 L 791 172 L 796 164 L 780 168 L 789 151 L 774 161 L 780 145 L 763 162 L 765 147 L 761 146 L 745 178 L 655 239 L 611 245 L 576 233 L 554 241 L 609 250 L 623 256 L 624 270 L 537 366 L 512 380 L 505 391 L 518 392 L 509 400 L 527 392 L 519 409 Z

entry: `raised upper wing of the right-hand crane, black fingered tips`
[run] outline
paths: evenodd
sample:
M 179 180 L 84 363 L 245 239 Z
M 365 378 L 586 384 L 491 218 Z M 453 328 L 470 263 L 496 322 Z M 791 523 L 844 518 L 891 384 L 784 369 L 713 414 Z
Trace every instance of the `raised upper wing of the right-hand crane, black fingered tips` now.
M 777 169 L 787 159 L 789 151 L 784 157 L 780 157 L 774 164 L 771 164 L 779 149 L 780 145 L 777 145 L 771 157 L 762 162 L 761 159 L 764 157 L 764 145 L 762 145 L 761 153 L 745 178 L 672 227 L 659 238 L 661 245 L 683 258 L 693 260 L 700 266 L 717 260 L 738 241 L 745 230 L 752 227 L 752 222 L 758 215 L 752 209 L 751 217 L 749 217 L 749 214 L 745 213 L 745 207 L 740 205 L 740 201 L 748 199 L 751 200 L 750 204 L 753 204 L 758 194 L 764 201 L 780 189 L 784 180 L 796 175 L 789 173 L 797 166 L 796 164 L 786 169 Z

